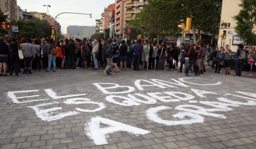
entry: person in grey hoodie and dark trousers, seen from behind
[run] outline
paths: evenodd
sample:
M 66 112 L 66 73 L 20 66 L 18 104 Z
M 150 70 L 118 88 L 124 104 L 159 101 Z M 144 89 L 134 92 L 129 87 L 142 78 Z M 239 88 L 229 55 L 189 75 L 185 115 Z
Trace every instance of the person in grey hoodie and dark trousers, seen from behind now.
M 23 74 L 32 74 L 31 68 L 32 68 L 32 61 L 33 58 L 36 57 L 36 53 L 34 50 L 34 45 L 31 44 L 31 39 L 27 38 L 27 43 L 23 44 L 23 50 L 24 50 L 24 59 L 25 59 L 25 69 Z M 50 63 L 51 64 L 51 63 Z

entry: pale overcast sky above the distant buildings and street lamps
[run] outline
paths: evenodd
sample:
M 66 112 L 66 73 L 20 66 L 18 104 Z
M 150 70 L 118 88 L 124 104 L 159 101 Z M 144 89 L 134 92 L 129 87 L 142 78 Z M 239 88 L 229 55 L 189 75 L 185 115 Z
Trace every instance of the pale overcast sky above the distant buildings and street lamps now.
M 44 2 L 43 2 L 44 1 Z M 92 19 L 89 15 L 78 14 L 61 14 L 58 16 L 58 22 L 61 25 L 61 30 L 66 33 L 68 25 L 95 25 L 95 20 L 100 19 L 100 14 L 104 8 L 110 4 L 115 3 L 115 0 L 17 0 L 17 5 L 28 12 L 36 11 L 47 14 L 47 7 L 43 5 L 50 5 L 48 8 L 49 15 L 54 18 L 63 12 L 92 14 Z

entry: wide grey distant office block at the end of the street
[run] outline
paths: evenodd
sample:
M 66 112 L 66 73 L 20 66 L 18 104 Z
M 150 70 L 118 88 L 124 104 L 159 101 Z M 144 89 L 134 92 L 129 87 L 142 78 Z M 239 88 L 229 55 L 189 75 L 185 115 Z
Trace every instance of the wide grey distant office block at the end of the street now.
M 78 26 L 78 25 L 68 25 L 66 38 L 79 38 L 79 39 L 90 39 L 93 34 L 95 34 L 95 26 Z

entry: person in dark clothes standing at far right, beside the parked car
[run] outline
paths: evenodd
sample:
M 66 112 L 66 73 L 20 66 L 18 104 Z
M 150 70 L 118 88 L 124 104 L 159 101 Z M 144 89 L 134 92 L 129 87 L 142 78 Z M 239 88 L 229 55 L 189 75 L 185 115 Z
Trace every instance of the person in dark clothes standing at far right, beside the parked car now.
M 243 68 L 244 60 L 245 60 L 245 57 L 243 57 L 243 55 L 246 55 L 245 51 L 243 50 L 243 45 L 242 44 L 239 44 L 237 46 L 236 55 L 237 55 L 236 66 L 235 66 L 235 74 L 236 75 L 234 75 L 234 76 L 241 77 L 242 68 Z

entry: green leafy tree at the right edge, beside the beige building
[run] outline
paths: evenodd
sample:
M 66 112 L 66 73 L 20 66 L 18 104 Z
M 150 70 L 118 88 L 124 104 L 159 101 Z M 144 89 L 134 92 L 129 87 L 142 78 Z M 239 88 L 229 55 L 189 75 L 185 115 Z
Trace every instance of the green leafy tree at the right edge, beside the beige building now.
M 256 43 L 256 0 L 241 0 L 241 10 L 233 17 L 236 21 L 235 32 L 240 36 L 246 44 L 250 46 Z

